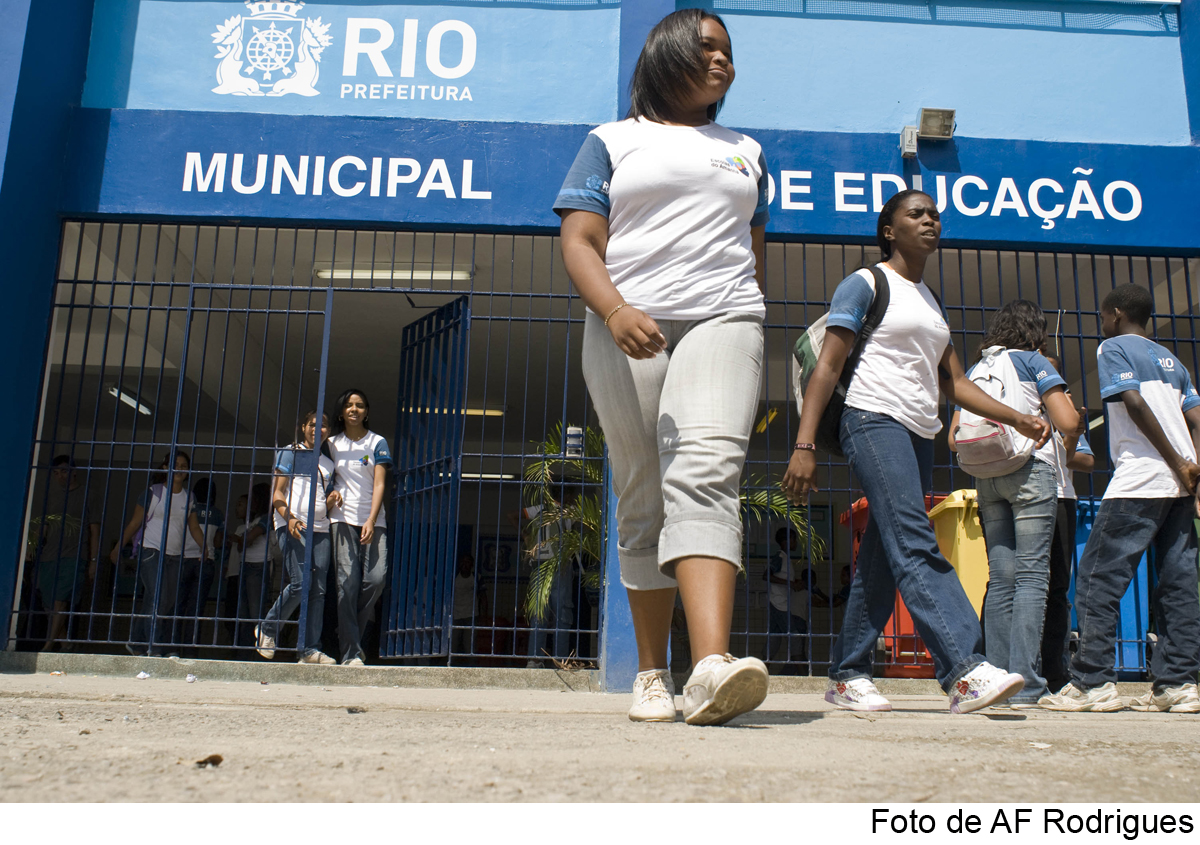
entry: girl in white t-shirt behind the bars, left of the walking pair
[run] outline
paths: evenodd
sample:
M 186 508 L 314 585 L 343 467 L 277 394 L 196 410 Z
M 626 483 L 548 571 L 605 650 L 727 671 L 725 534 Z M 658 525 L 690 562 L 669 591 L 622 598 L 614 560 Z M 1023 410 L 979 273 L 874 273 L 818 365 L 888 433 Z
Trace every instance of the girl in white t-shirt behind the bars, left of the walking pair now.
M 130 654 L 162 657 L 175 652 L 170 635 L 172 617 L 179 600 L 179 573 L 184 561 L 184 532 L 191 533 L 197 544 L 204 544 L 204 532 L 196 517 L 192 497 L 187 492 L 187 473 L 192 461 L 185 451 L 175 451 L 175 472 L 170 473 L 167 489 L 169 456 L 162 459 L 155 484 L 142 493 L 130 516 L 121 541 L 108 556 L 115 567 L 121 549 L 142 533 L 138 550 L 138 580 L 142 597 L 130 627 Z M 150 618 L 155 618 L 152 641 L 148 636 Z M 166 648 L 163 648 L 166 647 Z

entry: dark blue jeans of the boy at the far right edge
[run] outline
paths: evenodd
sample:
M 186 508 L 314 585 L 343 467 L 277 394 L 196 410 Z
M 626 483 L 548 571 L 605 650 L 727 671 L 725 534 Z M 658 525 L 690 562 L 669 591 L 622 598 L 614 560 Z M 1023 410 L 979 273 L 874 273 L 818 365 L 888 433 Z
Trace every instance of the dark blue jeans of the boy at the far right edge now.
M 1158 643 L 1150 669 L 1156 687 L 1194 684 L 1200 671 L 1200 599 L 1190 496 L 1177 499 L 1104 499 L 1079 558 L 1075 610 L 1079 652 L 1070 679 L 1092 689 L 1117 679 L 1116 628 L 1121 597 L 1153 547 L 1158 586 Z

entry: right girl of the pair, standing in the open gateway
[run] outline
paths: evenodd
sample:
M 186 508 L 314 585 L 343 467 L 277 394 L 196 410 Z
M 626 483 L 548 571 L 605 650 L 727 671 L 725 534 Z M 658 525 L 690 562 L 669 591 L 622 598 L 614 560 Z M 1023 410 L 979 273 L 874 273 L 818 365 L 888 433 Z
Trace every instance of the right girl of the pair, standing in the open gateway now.
M 334 413 L 334 492 L 329 520 L 337 563 L 337 642 L 343 666 L 362 666 L 362 629 L 383 593 L 388 568 L 384 489 L 391 453 L 368 425 L 371 403 L 361 390 L 337 397 Z

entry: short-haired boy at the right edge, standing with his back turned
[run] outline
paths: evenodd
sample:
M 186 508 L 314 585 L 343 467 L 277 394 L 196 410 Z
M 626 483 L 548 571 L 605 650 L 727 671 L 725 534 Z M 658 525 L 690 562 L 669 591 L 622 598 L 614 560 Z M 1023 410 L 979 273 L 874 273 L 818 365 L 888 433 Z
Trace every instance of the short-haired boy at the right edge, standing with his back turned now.
M 1097 356 L 1112 480 L 1079 561 L 1079 652 L 1072 679 L 1057 695 L 1038 701 L 1046 709 L 1124 708 L 1114 683 L 1117 607 L 1141 556 L 1153 546 L 1159 609 L 1154 687 L 1132 703 L 1200 713 L 1200 599 L 1192 526 L 1200 479 L 1200 396 L 1180 360 L 1146 337 L 1153 304 L 1145 288 L 1123 284 L 1100 305 L 1105 341 Z

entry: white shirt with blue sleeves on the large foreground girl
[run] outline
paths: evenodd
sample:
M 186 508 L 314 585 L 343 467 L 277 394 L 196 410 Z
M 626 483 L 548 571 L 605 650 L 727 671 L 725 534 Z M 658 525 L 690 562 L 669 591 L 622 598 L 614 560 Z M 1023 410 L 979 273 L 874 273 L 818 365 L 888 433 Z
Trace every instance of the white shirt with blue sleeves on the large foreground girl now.
M 768 179 L 762 148 L 740 132 L 622 120 L 588 134 L 554 211 L 608 220 L 608 276 L 650 317 L 764 317 L 750 228 L 769 218 Z

